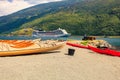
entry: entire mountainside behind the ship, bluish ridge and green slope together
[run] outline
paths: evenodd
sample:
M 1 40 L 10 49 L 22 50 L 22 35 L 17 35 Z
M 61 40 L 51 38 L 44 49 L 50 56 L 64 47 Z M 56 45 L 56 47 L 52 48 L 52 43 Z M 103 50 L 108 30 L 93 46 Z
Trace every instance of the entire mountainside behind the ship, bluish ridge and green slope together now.
M 0 33 L 17 35 L 22 29 L 54 30 L 59 27 L 73 35 L 120 35 L 120 2 L 64 0 L 0 17 Z

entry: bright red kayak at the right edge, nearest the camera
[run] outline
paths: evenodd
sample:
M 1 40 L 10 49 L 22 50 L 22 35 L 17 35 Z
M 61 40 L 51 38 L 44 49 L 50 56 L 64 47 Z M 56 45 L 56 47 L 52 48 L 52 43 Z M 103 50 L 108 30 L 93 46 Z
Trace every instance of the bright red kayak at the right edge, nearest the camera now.
M 100 49 L 100 48 L 96 48 L 96 47 L 92 47 L 92 46 L 88 46 L 88 47 L 89 47 L 89 49 L 91 49 L 92 51 L 97 52 L 97 53 L 107 54 L 107 55 L 112 55 L 112 56 L 120 56 L 119 51 L 111 50 L 109 48 Z

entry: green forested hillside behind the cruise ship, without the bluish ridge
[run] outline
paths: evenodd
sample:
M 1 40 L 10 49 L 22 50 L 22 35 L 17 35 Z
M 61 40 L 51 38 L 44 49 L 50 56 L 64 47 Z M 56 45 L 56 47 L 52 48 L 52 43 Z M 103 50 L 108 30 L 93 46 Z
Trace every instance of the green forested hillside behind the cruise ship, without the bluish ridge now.
M 74 3 L 69 0 L 65 4 L 43 16 L 16 25 L 14 34 L 25 28 L 55 30 L 60 27 L 72 35 L 120 35 L 119 0 L 75 0 Z

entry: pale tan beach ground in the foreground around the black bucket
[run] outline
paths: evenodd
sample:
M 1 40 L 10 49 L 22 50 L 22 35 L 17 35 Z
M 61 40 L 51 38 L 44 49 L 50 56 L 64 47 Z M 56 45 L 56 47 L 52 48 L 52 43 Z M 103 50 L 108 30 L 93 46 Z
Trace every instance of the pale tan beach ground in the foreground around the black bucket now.
M 68 48 L 75 49 L 73 56 Z M 120 80 L 120 58 L 65 45 L 47 53 L 0 57 L 0 80 Z

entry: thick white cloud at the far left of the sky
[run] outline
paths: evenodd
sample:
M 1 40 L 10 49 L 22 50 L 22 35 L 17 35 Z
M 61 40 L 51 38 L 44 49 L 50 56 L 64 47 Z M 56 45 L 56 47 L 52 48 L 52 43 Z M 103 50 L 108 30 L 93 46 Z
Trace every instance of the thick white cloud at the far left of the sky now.
M 27 8 L 32 6 L 31 4 L 25 2 L 24 0 L 14 0 L 14 1 L 7 1 L 2 0 L 0 1 L 0 16 L 11 14 L 18 10 Z

